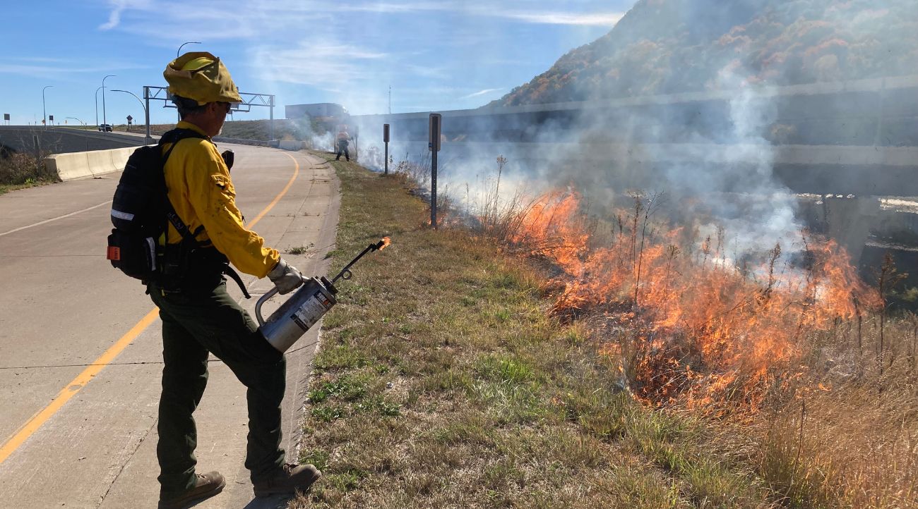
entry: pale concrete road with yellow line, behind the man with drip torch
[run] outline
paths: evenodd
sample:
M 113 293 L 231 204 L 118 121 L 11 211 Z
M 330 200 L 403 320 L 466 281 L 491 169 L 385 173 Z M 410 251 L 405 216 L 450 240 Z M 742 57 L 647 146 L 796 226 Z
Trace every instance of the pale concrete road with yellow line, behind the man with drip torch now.
M 330 167 L 305 152 L 220 148 L 236 152 L 232 176 L 247 223 L 282 252 L 307 248 L 284 257 L 308 275 L 324 274 L 339 203 Z M 160 321 L 140 283 L 105 259 L 119 176 L 0 195 L 0 508 L 156 506 Z M 252 313 L 271 283 L 243 281 Z M 291 460 L 317 331 L 287 354 Z M 199 470 L 227 478 L 226 490 L 198 507 L 285 505 L 252 500 L 245 391 L 218 360 L 196 419 Z

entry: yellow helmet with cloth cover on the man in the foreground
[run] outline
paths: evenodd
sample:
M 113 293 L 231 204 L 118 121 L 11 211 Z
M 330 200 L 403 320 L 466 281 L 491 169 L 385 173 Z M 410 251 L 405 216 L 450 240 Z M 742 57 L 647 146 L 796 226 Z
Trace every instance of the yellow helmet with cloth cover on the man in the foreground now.
M 169 94 L 194 99 L 198 105 L 242 102 L 226 66 L 206 51 L 185 53 L 169 62 L 162 76 Z

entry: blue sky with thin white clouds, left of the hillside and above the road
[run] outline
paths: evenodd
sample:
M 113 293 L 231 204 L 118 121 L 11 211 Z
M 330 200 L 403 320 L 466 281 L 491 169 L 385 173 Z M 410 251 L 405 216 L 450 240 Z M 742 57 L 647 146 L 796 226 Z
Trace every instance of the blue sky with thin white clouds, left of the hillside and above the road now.
M 143 85 L 185 51 L 220 57 L 241 92 L 355 114 L 484 105 L 614 26 L 634 0 L 69 0 L 9 2 L 0 29 L 0 113 L 11 124 L 142 123 Z M 106 79 L 105 114 L 102 86 Z M 151 103 L 153 123 L 174 109 Z M 96 113 L 97 111 L 97 113 Z M 66 117 L 73 117 L 67 119 Z M 267 118 L 252 108 L 237 120 Z

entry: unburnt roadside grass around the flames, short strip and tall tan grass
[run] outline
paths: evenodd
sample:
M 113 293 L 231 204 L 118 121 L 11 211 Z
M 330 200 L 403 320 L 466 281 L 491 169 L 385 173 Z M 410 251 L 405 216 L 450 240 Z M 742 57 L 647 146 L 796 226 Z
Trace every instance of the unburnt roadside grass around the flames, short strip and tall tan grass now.
M 334 164 L 334 263 L 393 245 L 323 323 L 301 459 L 326 477 L 291 507 L 918 507 L 913 315 L 801 331 L 756 411 L 651 409 L 608 355 L 628 322 L 551 317 L 563 285 L 539 253 L 565 242 L 508 249 L 532 203 L 433 231 L 420 170 Z

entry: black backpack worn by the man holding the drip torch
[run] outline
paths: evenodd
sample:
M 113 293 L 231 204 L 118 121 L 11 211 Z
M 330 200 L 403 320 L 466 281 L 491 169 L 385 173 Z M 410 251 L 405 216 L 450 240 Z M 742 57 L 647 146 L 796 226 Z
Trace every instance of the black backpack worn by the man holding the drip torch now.
M 157 253 L 167 221 L 183 238 L 196 242 L 169 202 L 163 173 L 175 144 L 185 138 L 204 137 L 190 129 L 174 129 L 164 134 L 159 144 L 134 150 L 112 199 L 111 219 L 115 227 L 108 236 L 106 259 L 116 269 L 142 282 L 156 281 L 162 272 Z M 163 154 L 165 143 L 173 146 Z

